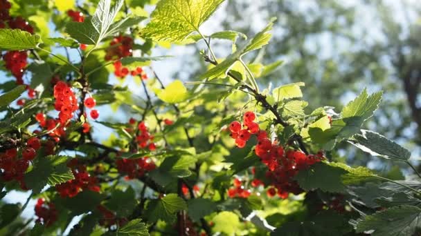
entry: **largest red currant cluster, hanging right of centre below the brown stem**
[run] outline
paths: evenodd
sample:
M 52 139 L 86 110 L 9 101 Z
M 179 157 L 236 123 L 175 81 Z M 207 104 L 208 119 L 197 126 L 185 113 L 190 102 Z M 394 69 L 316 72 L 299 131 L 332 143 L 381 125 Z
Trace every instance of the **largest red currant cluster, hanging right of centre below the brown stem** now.
M 288 193 L 297 195 L 303 192 L 294 180 L 294 176 L 300 170 L 321 161 L 323 155 L 321 155 L 321 153 L 318 155 L 305 155 L 305 153 L 298 150 L 288 150 L 286 155 L 279 155 L 271 158 L 274 159 L 262 159 L 263 163 L 267 164 L 269 167 L 266 177 L 271 179 L 272 186 L 274 187 L 273 189 L 269 188 L 269 190 L 271 191 L 271 195 L 278 193 L 279 197 L 285 199 L 288 197 Z

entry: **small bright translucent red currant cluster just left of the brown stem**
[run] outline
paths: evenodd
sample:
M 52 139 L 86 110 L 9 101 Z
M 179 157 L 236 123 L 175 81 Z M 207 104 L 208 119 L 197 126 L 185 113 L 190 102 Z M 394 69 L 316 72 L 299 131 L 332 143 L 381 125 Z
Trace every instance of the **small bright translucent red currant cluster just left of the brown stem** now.
M 246 146 L 247 140 L 250 139 L 252 134 L 257 134 L 260 130 L 259 125 L 254 122 L 256 115 L 253 112 L 248 111 L 244 113 L 243 121 L 244 125 L 238 121 L 233 121 L 229 125 L 229 130 L 231 131 L 231 137 L 235 139 L 235 145 L 239 148 L 244 148 Z M 247 128 L 244 128 L 247 127 Z

